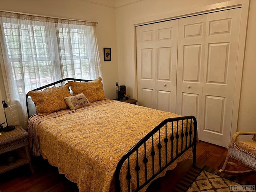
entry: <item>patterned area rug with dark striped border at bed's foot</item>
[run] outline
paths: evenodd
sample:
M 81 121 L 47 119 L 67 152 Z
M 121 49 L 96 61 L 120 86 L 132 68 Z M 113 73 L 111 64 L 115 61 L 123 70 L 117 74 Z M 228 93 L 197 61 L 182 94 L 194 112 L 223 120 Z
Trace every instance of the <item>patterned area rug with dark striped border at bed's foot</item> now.
M 230 192 L 230 185 L 246 184 L 237 176 L 219 173 L 218 170 L 196 164 L 176 185 L 173 192 Z

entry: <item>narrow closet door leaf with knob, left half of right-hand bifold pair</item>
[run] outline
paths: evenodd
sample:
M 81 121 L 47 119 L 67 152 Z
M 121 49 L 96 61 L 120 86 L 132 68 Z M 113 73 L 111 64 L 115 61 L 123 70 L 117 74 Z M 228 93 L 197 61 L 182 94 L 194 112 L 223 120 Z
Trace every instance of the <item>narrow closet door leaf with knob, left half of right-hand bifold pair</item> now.
M 201 126 L 206 15 L 178 20 L 176 113 L 193 115 Z M 200 132 L 198 132 L 200 137 Z

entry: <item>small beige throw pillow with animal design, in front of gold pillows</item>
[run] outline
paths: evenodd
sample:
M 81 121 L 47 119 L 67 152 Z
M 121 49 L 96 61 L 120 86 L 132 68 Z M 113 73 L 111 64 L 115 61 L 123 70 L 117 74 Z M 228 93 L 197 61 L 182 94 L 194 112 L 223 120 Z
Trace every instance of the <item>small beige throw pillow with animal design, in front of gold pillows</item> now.
M 64 100 L 71 110 L 90 105 L 90 102 L 83 93 L 76 96 L 64 97 Z

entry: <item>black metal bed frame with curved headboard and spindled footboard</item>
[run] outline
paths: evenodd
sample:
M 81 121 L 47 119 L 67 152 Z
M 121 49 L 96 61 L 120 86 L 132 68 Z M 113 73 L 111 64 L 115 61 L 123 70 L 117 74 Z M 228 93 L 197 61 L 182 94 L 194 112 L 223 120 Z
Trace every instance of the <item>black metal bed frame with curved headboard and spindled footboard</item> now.
M 83 80 L 83 79 L 76 79 L 76 78 L 65 78 L 53 83 L 50 83 L 48 85 L 42 86 L 40 88 L 36 88 L 34 90 L 44 90 L 45 88 L 49 88 L 52 86 L 56 86 L 57 84 L 63 85 L 64 82 L 67 82 L 68 80 L 71 81 L 76 81 L 76 82 L 88 82 L 91 80 Z M 29 114 L 29 107 L 28 107 L 28 94 L 26 94 L 26 106 L 27 106 L 27 112 L 28 112 L 28 117 L 30 117 Z M 174 124 L 176 122 L 176 126 L 174 127 Z M 190 124 L 188 124 L 190 122 Z M 194 126 L 193 131 L 192 131 L 192 124 Z M 169 125 L 169 126 L 168 126 Z M 181 125 L 181 126 L 180 126 Z M 182 130 L 179 131 L 179 127 L 181 127 Z M 169 130 L 169 135 L 167 134 Z M 173 134 L 174 129 L 176 129 L 176 134 Z M 160 132 L 164 131 L 165 136 L 164 138 L 161 138 Z M 181 134 L 179 135 L 179 132 Z M 158 144 L 157 148 L 155 147 L 156 141 L 154 141 L 154 134 L 158 134 Z M 193 134 L 193 135 L 192 135 Z M 192 138 L 193 136 L 193 138 Z M 191 139 L 192 138 L 192 139 Z M 119 160 L 117 166 L 116 166 L 116 171 L 114 174 L 114 181 L 115 181 L 115 191 L 116 192 L 121 192 L 121 186 L 120 186 L 120 171 L 122 168 L 122 165 L 124 162 L 127 161 L 128 166 L 127 166 L 127 174 L 126 174 L 126 179 L 128 182 L 128 192 L 131 192 L 131 180 L 132 180 L 132 175 L 130 174 L 131 170 L 136 171 L 136 185 L 137 188 L 135 192 L 138 192 L 140 189 L 142 189 L 144 186 L 146 186 L 149 182 L 151 182 L 156 176 L 158 176 L 163 170 L 165 170 L 172 162 L 174 162 L 177 158 L 179 158 L 184 152 L 186 152 L 189 148 L 193 148 L 193 164 L 196 163 L 196 140 L 197 138 L 197 122 L 196 118 L 194 116 L 181 116 L 177 118 L 169 118 L 164 121 L 162 121 L 158 126 L 156 126 L 153 130 L 151 130 L 142 140 L 140 140 L 136 145 L 134 145 L 126 154 L 122 156 L 122 158 Z M 175 140 L 176 139 L 176 140 Z M 175 140 L 175 141 L 174 141 Z M 178 152 L 178 141 L 181 140 L 180 142 L 180 148 L 181 151 Z M 151 143 L 151 152 L 150 152 L 150 158 L 152 159 L 152 176 L 148 177 L 147 170 L 149 169 L 147 164 L 149 159 L 146 156 L 146 142 Z M 176 142 L 176 148 L 174 148 L 174 142 Z M 162 146 L 164 145 L 164 147 Z M 167 150 L 167 145 L 171 145 L 171 151 Z M 185 144 L 185 148 L 183 148 Z M 144 172 L 142 172 L 142 169 L 139 166 L 139 156 L 138 156 L 138 149 L 140 147 L 144 147 Z M 155 149 L 154 149 L 155 147 Z M 174 156 L 174 150 L 175 156 Z M 161 158 L 161 153 L 164 153 L 165 159 L 163 160 Z M 156 155 L 157 154 L 157 155 Z M 171 155 L 170 160 L 168 160 L 168 154 Z M 136 166 L 135 167 L 130 167 L 130 157 L 134 155 L 136 156 Z M 158 157 L 156 157 L 158 156 Z M 155 165 L 155 158 L 159 158 L 158 163 Z M 154 168 L 155 166 L 158 166 L 159 169 L 157 172 L 155 172 Z M 142 175 L 144 176 L 145 182 L 140 184 L 139 176 Z

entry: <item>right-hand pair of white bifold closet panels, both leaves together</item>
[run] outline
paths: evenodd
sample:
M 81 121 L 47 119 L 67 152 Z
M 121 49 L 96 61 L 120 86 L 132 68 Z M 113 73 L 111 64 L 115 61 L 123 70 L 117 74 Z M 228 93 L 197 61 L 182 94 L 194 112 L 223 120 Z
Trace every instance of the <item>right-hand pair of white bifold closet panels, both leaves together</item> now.
M 200 140 L 224 147 L 230 143 L 240 16 L 238 8 L 179 20 L 177 113 L 196 116 Z

